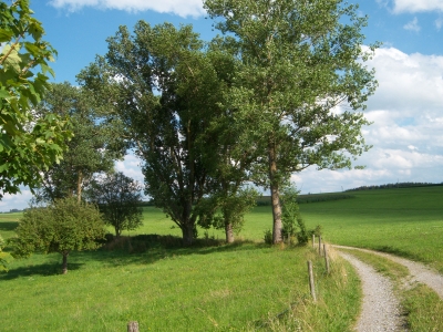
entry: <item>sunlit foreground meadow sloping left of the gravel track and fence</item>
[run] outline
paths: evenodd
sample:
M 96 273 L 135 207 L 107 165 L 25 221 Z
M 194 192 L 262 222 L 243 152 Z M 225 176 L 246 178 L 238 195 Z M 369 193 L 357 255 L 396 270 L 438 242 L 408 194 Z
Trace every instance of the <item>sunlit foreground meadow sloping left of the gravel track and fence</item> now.
M 13 236 L 19 217 L 1 215 L 3 238 Z M 177 232 L 158 210 L 147 208 L 145 219 L 140 234 Z M 123 331 L 135 320 L 141 331 L 348 331 L 358 314 L 352 269 L 336 259 L 327 276 L 310 247 L 202 240 L 181 248 L 171 237 L 144 238 L 151 240 L 140 246 L 133 237 L 131 250 L 124 243 L 73 252 L 66 276 L 58 253 L 13 261 L 0 274 L 0 330 Z M 309 294 L 308 259 L 318 303 Z

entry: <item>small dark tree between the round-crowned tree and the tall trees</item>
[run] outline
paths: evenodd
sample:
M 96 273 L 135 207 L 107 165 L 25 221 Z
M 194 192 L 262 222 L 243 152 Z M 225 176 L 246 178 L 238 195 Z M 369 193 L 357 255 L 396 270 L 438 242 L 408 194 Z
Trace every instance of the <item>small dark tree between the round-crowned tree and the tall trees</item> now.
M 119 172 L 103 179 L 95 179 L 90 189 L 91 200 L 99 205 L 104 221 L 115 228 L 116 237 L 122 230 L 136 229 L 143 225 L 141 207 L 142 186 Z

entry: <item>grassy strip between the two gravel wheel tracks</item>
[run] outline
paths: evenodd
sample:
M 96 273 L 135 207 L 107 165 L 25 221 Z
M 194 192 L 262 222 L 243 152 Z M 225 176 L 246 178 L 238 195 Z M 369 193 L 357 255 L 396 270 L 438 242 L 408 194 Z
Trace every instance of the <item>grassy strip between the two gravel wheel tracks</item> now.
M 405 311 L 409 331 L 443 331 L 443 301 L 424 284 L 409 286 L 406 282 L 408 268 L 368 252 L 344 249 L 343 251 L 348 251 L 371 264 L 377 271 L 394 282 L 396 293 Z

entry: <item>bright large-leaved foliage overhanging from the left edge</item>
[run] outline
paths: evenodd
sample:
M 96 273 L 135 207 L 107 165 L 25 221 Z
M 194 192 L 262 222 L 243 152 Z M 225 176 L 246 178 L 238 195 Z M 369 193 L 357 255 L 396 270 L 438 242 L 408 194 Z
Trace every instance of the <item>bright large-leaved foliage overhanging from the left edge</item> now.
M 28 0 L 0 2 L 0 199 L 20 185 L 33 190 L 39 173 L 60 162 L 72 136 L 65 117 L 33 112 L 50 89 L 47 74 L 54 74 L 48 62 L 56 52 L 43 34 Z

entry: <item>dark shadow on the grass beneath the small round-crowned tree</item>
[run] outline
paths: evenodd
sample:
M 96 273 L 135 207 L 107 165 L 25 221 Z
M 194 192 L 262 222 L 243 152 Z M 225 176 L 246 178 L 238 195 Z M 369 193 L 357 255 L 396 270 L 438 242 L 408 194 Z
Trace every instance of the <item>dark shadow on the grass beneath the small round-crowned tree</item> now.
M 81 268 L 81 266 L 83 266 L 83 263 L 68 262 L 68 273 L 69 273 L 69 271 L 72 271 L 72 270 L 79 270 Z M 9 270 L 8 273 L 0 274 L 0 281 L 12 280 L 12 279 L 23 278 L 23 277 L 34 277 L 34 276 L 40 276 L 40 277 L 56 276 L 56 274 L 61 274 L 61 272 L 62 272 L 61 262 L 54 261 L 51 263 L 25 266 L 25 267 L 20 267 L 17 269 L 11 269 L 11 270 Z

